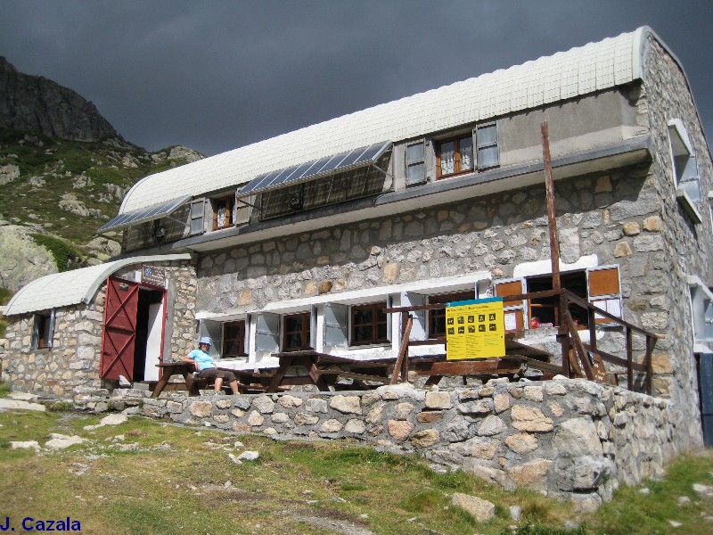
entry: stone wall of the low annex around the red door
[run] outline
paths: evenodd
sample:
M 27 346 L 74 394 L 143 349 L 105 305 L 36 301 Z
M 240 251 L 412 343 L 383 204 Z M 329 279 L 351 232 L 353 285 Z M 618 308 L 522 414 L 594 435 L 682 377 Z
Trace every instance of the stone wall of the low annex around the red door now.
M 167 277 L 176 288 L 172 321 L 171 350 L 188 352 L 195 337 L 195 272 L 188 262 L 168 264 Z M 120 271 L 117 275 L 124 273 Z M 102 328 L 106 285 L 102 284 L 88 305 L 79 303 L 56 310 L 53 347 L 30 350 L 33 315 L 9 317 L 2 352 L 2 379 L 12 390 L 70 397 L 78 387 L 100 388 L 99 366 L 102 355 Z M 4 346 L 4 348 L 3 348 Z

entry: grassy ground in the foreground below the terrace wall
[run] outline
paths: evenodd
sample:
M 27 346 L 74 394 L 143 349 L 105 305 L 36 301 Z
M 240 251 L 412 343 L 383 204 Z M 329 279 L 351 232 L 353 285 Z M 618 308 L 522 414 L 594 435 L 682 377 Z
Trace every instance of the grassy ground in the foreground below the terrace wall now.
M 83 429 L 100 418 L 0 414 L 0 516 L 19 525 L 28 515 L 69 515 L 81 521 L 83 532 L 107 535 L 487 535 L 512 533 L 508 507 L 519 505 L 521 535 L 709 533 L 713 526 L 701 516 L 713 514 L 713 501 L 701 501 L 692 490 L 693 482 L 713 482 L 709 454 L 682 457 L 664 480 L 646 483 L 648 495 L 622 489 L 597 514 L 583 515 L 537 493 L 504 492 L 464 473 L 434 473 L 422 459 L 378 453 L 356 443 L 275 442 L 138 417 L 117 427 Z M 9 449 L 10 440 L 44 444 L 51 432 L 80 434 L 89 441 L 53 453 Z M 235 440 L 243 446 L 236 449 Z M 130 443 L 136 449 L 120 451 L 121 444 Z M 228 457 L 247 449 L 260 452 L 258 461 L 236 465 Z M 453 492 L 492 501 L 496 518 L 475 523 L 450 506 Z M 691 498 L 691 504 L 676 505 L 680 496 Z M 567 520 L 580 528 L 563 529 Z M 683 525 L 674 528 L 668 520 Z

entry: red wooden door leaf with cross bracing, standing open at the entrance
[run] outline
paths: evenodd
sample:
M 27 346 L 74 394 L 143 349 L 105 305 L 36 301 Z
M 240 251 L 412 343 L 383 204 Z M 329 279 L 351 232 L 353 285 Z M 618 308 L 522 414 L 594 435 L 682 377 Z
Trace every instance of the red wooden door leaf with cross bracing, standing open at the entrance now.
M 106 283 L 104 333 L 99 376 L 119 379 L 124 375 L 134 379 L 134 349 L 136 342 L 136 308 L 139 285 L 114 277 Z

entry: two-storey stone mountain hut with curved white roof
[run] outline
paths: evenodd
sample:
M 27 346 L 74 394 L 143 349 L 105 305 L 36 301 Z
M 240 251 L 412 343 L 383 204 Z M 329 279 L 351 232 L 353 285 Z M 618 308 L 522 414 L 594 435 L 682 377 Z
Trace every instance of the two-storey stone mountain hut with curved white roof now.
M 222 366 L 307 347 L 395 356 L 400 324 L 386 307 L 552 287 L 543 121 L 562 283 L 665 335 L 653 358 L 654 393 L 680 411 L 680 445 L 700 444 L 697 366 L 713 337 L 713 169 L 683 67 L 651 29 L 145 177 L 102 230 L 124 231 L 116 261 L 127 265 L 153 261 L 138 255 L 165 266 L 176 260 L 160 255 L 191 257 L 166 268 L 165 286 L 184 302 L 170 292 L 162 301 L 173 307 L 164 356 L 181 356 L 205 334 Z M 91 364 L 73 377 L 98 381 L 103 290 L 68 309 L 33 304 L 40 286 L 32 286 L 15 298 L 27 306 L 11 302 L 6 311 L 14 323 L 4 376 L 45 390 L 51 366 L 78 359 L 86 344 L 73 334 L 78 347 L 70 350 L 55 328 L 52 348 L 33 349 L 33 325 L 44 326 L 53 309 L 59 322 L 62 308 L 82 320 L 95 308 L 95 323 L 84 322 Z M 547 301 L 510 301 L 505 318 L 533 342 L 554 341 Z M 623 333 L 602 318 L 597 325 L 602 350 L 621 355 Z M 419 313 L 412 337 L 443 328 L 442 315 Z

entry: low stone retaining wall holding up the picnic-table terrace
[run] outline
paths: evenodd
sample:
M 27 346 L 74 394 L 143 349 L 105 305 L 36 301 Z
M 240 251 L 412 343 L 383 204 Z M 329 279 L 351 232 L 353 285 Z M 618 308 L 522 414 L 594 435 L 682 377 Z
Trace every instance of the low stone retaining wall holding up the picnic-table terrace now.
M 114 391 L 77 396 L 79 407 L 135 406 L 145 416 L 279 440 L 342 439 L 434 465 L 462 468 L 506 489 L 516 486 L 592 509 L 619 483 L 660 474 L 682 448 L 680 407 L 618 387 L 558 377 L 454 391 L 408 384 L 376 391 L 299 392 L 187 398 Z M 148 395 L 147 393 L 143 394 Z

